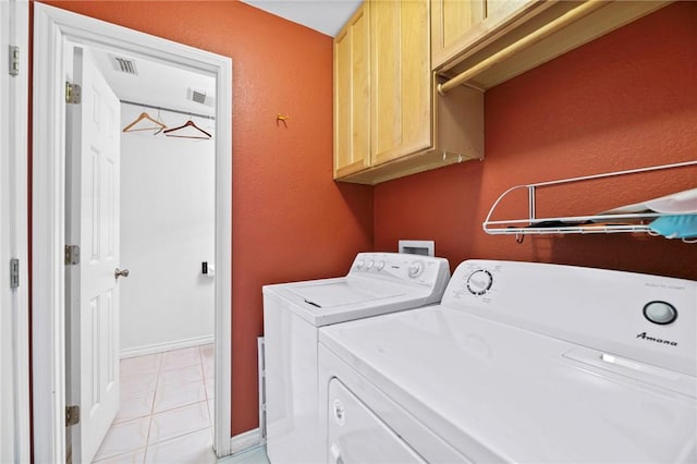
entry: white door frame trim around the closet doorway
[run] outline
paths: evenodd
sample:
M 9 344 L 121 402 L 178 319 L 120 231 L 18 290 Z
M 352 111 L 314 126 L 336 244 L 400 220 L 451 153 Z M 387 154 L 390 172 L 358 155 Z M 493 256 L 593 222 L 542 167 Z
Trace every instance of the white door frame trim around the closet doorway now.
M 66 42 L 108 47 L 216 77 L 216 420 L 231 453 L 232 60 L 100 20 L 34 3 L 32 306 L 34 461 L 65 459 Z

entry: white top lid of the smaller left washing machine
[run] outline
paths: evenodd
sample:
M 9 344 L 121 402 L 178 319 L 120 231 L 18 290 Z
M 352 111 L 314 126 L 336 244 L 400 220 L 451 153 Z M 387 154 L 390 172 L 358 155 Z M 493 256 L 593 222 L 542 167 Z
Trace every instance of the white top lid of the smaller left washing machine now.
M 320 282 L 307 285 L 289 286 L 306 303 L 319 308 L 331 308 L 345 305 L 357 305 L 380 300 L 393 298 L 406 294 L 403 288 L 383 285 L 381 291 L 367 284 L 356 285 L 348 280 L 338 282 Z

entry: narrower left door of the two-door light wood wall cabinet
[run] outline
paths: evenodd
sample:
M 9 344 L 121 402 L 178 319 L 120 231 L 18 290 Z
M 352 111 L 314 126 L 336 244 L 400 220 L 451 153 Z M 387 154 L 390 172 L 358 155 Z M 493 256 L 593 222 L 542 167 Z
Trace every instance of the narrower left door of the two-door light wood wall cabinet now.
M 334 179 L 370 163 L 369 27 L 366 3 L 334 39 Z

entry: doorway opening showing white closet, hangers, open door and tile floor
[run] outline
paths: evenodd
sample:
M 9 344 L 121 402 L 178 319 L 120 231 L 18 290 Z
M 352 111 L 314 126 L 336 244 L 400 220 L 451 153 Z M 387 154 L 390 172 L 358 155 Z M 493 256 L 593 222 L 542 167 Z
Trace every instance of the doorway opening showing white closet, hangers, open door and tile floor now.
M 83 88 L 82 101 L 68 106 L 66 157 L 73 168 L 66 178 L 66 239 L 91 254 L 89 264 L 71 266 L 66 276 L 68 403 L 89 411 L 83 414 L 89 434 L 66 430 L 69 462 L 73 453 L 82 462 L 166 462 L 181 459 L 182 449 L 192 462 L 215 459 L 215 78 L 97 47 L 68 47 L 65 56 L 75 57 L 73 81 L 82 75 Z M 89 77 L 88 66 L 95 76 Z M 95 93 L 99 83 L 107 88 Z M 99 114 L 111 94 L 115 124 L 107 110 Z M 81 123 L 87 133 L 80 142 L 71 139 Z M 100 138 L 109 146 L 100 147 Z M 119 150 L 108 162 L 118 167 L 113 180 L 114 168 L 100 167 L 110 149 Z M 78 166 L 86 167 L 82 176 Z M 118 190 L 108 193 L 111 182 Z M 95 188 L 107 198 L 93 205 Z M 109 213 L 99 223 L 98 217 Z M 101 232 L 93 231 L 93 222 Z M 115 230 L 105 233 L 109 228 Z M 102 240 L 94 243 L 90 235 L 99 233 Z M 86 273 L 99 272 L 100 259 L 107 272 L 121 268 L 107 282 L 110 293 L 101 302 L 73 284 L 82 272 L 90 285 L 94 278 Z M 114 310 L 113 335 L 107 327 L 81 325 L 86 314 L 100 312 L 100 320 L 86 325 L 106 326 Z M 101 345 L 81 334 L 93 330 Z M 93 359 L 83 350 L 115 352 Z M 106 366 L 90 366 L 95 362 Z M 113 381 L 111 366 L 118 366 Z M 115 402 L 110 390 L 118 390 L 118 410 L 98 411 Z

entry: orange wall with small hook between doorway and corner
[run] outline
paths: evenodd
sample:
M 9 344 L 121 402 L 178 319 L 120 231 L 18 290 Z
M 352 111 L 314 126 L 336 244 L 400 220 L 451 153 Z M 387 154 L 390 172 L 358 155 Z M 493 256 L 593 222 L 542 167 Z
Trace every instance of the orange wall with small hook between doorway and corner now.
M 47 3 L 233 60 L 233 434 L 256 428 L 261 285 L 372 248 L 371 188 L 332 181 L 332 39 L 236 1 Z

